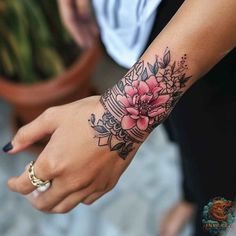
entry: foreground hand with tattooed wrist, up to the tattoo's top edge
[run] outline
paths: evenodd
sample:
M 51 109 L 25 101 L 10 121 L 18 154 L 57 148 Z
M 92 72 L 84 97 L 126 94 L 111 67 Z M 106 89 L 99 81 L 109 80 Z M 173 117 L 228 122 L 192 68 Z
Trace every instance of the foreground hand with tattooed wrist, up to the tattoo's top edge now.
M 51 180 L 52 185 L 31 194 L 32 205 L 45 212 L 67 212 L 112 189 L 138 147 L 189 86 L 186 60 L 186 55 L 180 61 L 172 58 L 166 48 L 152 61 L 140 59 L 101 97 L 50 108 L 21 128 L 9 153 L 51 135 L 34 168 L 39 179 Z M 21 194 L 35 190 L 28 168 L 8 184 Z

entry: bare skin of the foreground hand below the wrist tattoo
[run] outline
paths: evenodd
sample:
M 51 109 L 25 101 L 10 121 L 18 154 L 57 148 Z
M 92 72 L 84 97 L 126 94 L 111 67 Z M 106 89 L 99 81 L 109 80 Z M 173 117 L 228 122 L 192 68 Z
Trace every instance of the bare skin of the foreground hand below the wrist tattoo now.
M 88 122 L 91 112 L 96 117 L 104 113 L 98 96 L 50 108 L 13 138 L 11 154 L 51 135 L 35 162 L 35 173 L 40 179 L 51 180 L 52 185 L 29 198 L 35 208 L 47 213 L 65 213 L 81 202 L 91 204 L 114 187 L 131 162 L 137 148 L 122 160 L 107 146 L 98 146 Z M 23 195 L 35 190 L 27 170 L 11 178 L 8 186 Z

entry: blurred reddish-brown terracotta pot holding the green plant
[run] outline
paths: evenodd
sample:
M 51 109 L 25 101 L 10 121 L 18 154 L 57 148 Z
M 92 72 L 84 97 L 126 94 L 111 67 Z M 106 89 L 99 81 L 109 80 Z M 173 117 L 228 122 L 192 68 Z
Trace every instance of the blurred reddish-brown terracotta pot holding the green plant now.
M 57 78 L 33 85 L 16 84 L 0 78 L 0 96 L 8 101 L 21 124 L 36 118 L 45 109 L 91 95 L 91 75 L 101 56 L 101 47 L 81 52 L 78 60 Z

